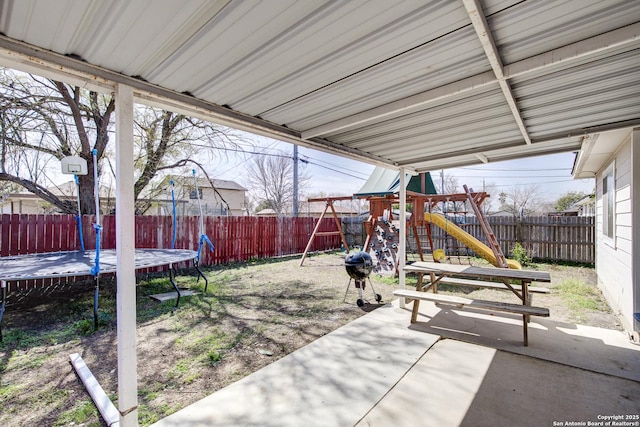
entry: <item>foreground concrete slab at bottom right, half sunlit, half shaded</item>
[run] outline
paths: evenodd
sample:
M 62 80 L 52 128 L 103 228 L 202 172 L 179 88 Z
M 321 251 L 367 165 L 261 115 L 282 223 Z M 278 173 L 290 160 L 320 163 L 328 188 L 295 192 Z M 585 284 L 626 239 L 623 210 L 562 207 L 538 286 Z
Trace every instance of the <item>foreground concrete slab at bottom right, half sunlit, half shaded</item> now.
M 638 402 L 635 381 L 443 339 L 357 425 L 587 425 Z

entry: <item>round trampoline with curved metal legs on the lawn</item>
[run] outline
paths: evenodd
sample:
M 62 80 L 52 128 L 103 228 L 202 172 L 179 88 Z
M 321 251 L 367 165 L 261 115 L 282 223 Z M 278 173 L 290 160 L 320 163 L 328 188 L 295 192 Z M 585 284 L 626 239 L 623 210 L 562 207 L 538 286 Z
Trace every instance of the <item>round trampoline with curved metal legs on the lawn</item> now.
M 198 272 L 198 279 L 205 281 L 205 292 L 208 281 L 198 267 L 198 252 L 184 249 L 136 249 L 135 268 L 169 266 L 169 281 L 178 293 L 176 307 L 180 302 L 180 289 L 174 281 L 174 264 L 194 261 L 194 267 Z M 7 299 L 7 282 L 31 279 L 47 279 L 60 277 L 91 276 L 96 258 L 95 250 L 49 252 L 27 255 L 15 255 L 0 258 L 0 285 L 2 286 L 2 304 L 0 305 L 0 340 L 2 339 L 2 316 L 5 311 Z M 100 250 L 100 273 L 115 273 L 117 271 L 115 249 Z M 98 282 L 93 307 L 94 323 L 98 322 Z

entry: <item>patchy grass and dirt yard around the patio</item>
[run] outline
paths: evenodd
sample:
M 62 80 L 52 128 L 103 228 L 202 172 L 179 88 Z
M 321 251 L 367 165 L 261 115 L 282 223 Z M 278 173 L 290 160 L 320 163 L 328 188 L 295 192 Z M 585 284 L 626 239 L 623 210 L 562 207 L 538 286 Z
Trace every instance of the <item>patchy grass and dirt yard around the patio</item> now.
M 139 278 L 138 395 L 140 425 L 187 406 L 378 307 L 356 305 L 342 253 L 256 261 L 206 271 L 206 294 L 194 276 L 178 277 L 199 295 L 159 303 L 165 277 Z M 593 269 L 539 264 L 551 271 L 551 293 L 536 295 L 554 319 L 619 328 L 595 287 Z M 383 303 L 396 282 L 372 276 Z M 479 299 L 506 292 L 447 288 Z M 115 285 L 102 281 L 100 327 L 93 330 L 93 283 L 11 294 L 0 344 L 0 425 L 100 426 L 102 421 L 69 364 L 79 353 L 112 400 L 117 399 Z

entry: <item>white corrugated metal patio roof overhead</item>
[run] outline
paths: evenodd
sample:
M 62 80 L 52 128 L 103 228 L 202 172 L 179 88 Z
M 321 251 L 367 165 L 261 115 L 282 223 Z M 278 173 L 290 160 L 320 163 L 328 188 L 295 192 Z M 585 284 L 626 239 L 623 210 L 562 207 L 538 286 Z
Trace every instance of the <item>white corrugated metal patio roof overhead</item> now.
M 0 64 L 416 171 L 640 124 L 640 2 L 5 0 Z

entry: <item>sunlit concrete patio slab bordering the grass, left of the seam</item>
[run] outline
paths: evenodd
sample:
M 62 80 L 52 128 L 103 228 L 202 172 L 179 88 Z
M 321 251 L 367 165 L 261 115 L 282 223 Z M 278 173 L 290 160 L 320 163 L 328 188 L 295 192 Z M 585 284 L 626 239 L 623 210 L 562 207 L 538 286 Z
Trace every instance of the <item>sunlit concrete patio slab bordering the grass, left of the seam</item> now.
M 386 305 L 154 426 L 355 425 L 438 339 Z

